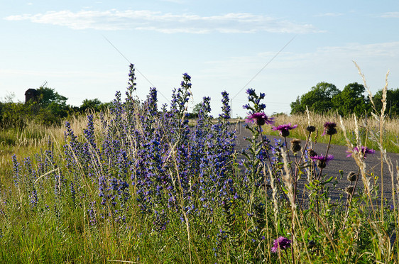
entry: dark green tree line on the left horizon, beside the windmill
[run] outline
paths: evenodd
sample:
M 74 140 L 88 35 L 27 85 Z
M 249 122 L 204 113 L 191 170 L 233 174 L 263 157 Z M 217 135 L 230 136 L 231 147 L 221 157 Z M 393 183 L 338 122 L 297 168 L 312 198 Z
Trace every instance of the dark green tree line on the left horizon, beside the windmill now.
M 84 99 L 81 106 L 71 106 L 67 104 L 67 97 L 55 89 L 40 87 L 36 91 L 35 97 L 26 102 L 14 102 L 12 95 L 0 101 L 0 128 L 24 128 L 30 121 L 45 126 L 61 125 L 67 117 L 88 110 L 101 111 L 109 106 L 99 99 Z

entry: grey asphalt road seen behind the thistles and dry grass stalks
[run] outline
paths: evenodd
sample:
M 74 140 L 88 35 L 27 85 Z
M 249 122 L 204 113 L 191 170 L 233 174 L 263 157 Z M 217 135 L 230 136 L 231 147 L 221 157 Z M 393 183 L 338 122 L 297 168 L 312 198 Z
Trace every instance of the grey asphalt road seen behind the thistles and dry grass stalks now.
M 244 123 L 239 124 L 236 127 L 236 150 L 241 151 L 244 148 L 248 147 L 248 141 L 244 140 L 244 137 L 249 137 L 252 136 L 251 132 L 248 131 L 248 129 L 245 129 L 243 127 Z M 273 138 L 279 138 L 275 136 L 268 136 L 268 138 L 273 142 Z M 291 138 L 288 139 L 288 147 L 290 147 L 290 140 Z M 301 143 L 302 148 L 305 146 L 305 141 L 302 141 Z M 327 150 L 327 144 L 324 143 L 313 143 L 312 148 L 316 151 L 318 154 L 323 154 L 325 155 L 326 150 Z M 346 175 L 351 172 L 358 172 L 359 167 L 356 165 L 354 158 L 347 158 L 346 153 L 347 147 L 342 146 L 342 145 L 331 145 L 329 148 L 329 154 L 334 155 L 334 160 L 331 160 L 327 167 L 323 169 L 323 175 L 327 174 L 328 177 L 334 176 L 339 179 L 341 177 L 341 174 L 339 173 L 340 170 L 343 171 L 343 177 L 339 182 L 337 183 L 337 187 L 335 189 L 331 189 L 329 192 L 329 196 L 332 198 L 332 200 L 339 199 L 339 195 L 343 194 L 344 191 L 343 189 L 349 185 L 351 185 L 351 182 L 346 180 Z M 366 162 L 366 174 L 371 175 L 373 173 L 374 176 L 378 177 L 378 180 L 374 182 L 374 180 L 371 180 L 372 184 L 378 184 L 381 185 L 381 160 L 380 160 L 380 152 L 376 150 L 376 153 L 372 155 L 367 155 L 367 158 L 365 160 Z M 395 165 L 396 165 L 396 160 L 399 161 L 399 154 L 398 153 L 388 153 L 388 156 L 392 160 L 394 170 L 395 170 Z M 396 172 L 395 172 L 396 174 Z M 395 175 L 396 177 L 396 175 Z M 373 178 L 373 177 L 372 177 Z M 388 166 L 384 163 L 383 165 L 383 194 L 388 201 L 392 197 L 392 177 L 388 171 Z M 394 179 L 395 184 L 397 183 L 397 180 Z M 298 196 L 302 196 L 302 192 L 304 190 L 305 184 L 307 183 L 307 179 L 303 177 L 298 181 Z M 327 186 L 332 187 L 332 184 L 328 184 Z M 357 184 L 356 190 L 361 190 L 363 189 L 363 182 L 361 182 L 361 179 L 359 179 L 359 182 Z M 381 195 L 381 192 L 379 192 Z M 345 194 L 346 197 L 346 194 Z

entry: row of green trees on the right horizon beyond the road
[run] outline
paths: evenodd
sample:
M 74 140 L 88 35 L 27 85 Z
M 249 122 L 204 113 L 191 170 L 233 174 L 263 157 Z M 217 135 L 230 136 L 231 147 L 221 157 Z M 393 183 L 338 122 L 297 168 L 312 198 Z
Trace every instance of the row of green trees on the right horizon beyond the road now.
M 319 82 L 309 92 L 297 97 L 296 101 L 290 104 L 291 114 L 305 113 L 306 106 L 309 111 L 318 114 L 325 114 L 329 111 L 337 112 L 341 116 L 370 114 L 373 109 L 370 98 L 365 95 L 365 92 L 364 86 L 357 82 L 347 84 L 342 91 L 337 89 L 334 84 Z M 381 111 L 382 108 L 382 94 L 381 89 L 373 95 L 372 100 L 377 111 Z M 399 89 L 388 89 L 386 101 L 386 114 L 398 116 Z

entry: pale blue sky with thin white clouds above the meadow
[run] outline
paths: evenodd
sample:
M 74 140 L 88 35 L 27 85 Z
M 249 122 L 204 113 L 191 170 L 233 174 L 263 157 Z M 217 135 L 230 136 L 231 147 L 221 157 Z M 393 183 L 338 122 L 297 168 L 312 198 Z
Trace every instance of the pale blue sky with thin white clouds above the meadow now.
M 266 93 L 266 114 L 319 82 L 399 88 L 399 3 L 388 1 L 0 0 L 0 98 L 24 101 L 43 84 L 80 106 L 124 94 L 129 63 L 137 96 L 158 89 L 169 104 L 182 74 L 192 77 L 190 109 L 211 97 L 221 112 L 246 116 L 246 89 Z

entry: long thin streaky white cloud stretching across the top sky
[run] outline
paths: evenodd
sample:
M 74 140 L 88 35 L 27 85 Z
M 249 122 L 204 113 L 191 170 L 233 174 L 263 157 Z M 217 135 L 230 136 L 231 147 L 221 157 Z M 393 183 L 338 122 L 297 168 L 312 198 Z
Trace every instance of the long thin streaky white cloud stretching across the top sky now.
M 7 16 L 8 21 L 31 21 L 72 29 L 142 30 L 161 33 L 315 33 L 306 23 L 261 16 L 253 13 L 226 13 L 218 16 L 173 14 L 158 11 L 48 11 L 46 13 Z

